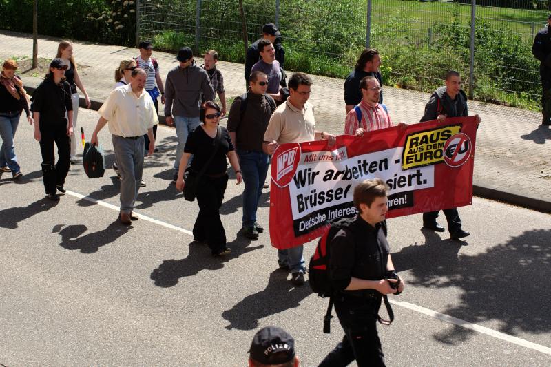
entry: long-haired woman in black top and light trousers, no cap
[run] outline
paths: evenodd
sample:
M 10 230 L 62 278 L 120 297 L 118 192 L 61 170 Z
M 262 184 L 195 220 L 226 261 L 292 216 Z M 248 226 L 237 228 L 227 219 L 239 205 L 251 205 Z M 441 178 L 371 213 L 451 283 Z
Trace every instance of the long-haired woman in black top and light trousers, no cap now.
M 67 65 L 67 70 L 65 71 L 65 80 L 71 86 L 71 101 L 73 104 L 73 127 L 76 126 L 76 117 L 79 114 L 79 93 L 76 92 L 76 87 L 79 87 L 79 90 L 83 92 L 84 99 L 86 102 L 86 108 L 90 108 L 90 98 L 86 92 L 86 89 L 79 77 L 79 72 L 76 69 L 76 63 L 74 62 L 73 57 L 73 44 L 70 41 L 61 41 L 57 46 L 56 58 L 63 60 L 65 65 Z M 70 162 L 76 162 L 76 136 L 73 134 L 71 136 L 71 157 Z

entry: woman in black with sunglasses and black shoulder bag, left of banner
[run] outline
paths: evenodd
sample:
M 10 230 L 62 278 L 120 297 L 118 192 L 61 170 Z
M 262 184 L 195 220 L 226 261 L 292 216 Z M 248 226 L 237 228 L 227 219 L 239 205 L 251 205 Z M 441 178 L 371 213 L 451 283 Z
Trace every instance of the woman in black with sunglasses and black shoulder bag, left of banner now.
M 221 114 L 220 107 L 216 103 L 212 101 L 203 103 L 200 111 L 202 125 L 199 125 L 187 137 L 184 153 L 180 159 L 178 179 L 176 180 L 178 190 L 183 191 L 184 189 L 184 171 L 191 154 L 194 159 L 189 167 L 189 175 L 198 174 L 213 155 Z M 207 242 L 213 256 L 224 256 L 231 253 L 231 249 L 226 246 L 226 232 L 222 220 L 220 220 L 220 207 L 228 182 L 226 157 L 229 158 L 231 167 L 236 172 L 237 184 L 240 184 L 242 180 L 237 154 L 233 143 L 231 143 L 229 132 L 225 127 L 220 127 L 220 129 L 220 144 L 214 152 L 205 174 L 200 178 L 200 185 L 198 185 L 199 214 L 193 231 L 194 240 Z

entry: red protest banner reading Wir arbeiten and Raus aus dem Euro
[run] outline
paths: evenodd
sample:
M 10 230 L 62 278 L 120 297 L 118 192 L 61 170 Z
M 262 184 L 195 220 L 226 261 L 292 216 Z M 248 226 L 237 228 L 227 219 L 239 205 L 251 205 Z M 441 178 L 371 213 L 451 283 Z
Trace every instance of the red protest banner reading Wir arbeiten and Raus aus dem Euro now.
M 390 187 L 387 218 L 472 202 L 477 122 L 447 118 L 368 132 L 290 143 L 272 156 L 270 238 L 288 249 L 324 233 L 328 220 L 353 216 L 357 182 L 382 178 Z

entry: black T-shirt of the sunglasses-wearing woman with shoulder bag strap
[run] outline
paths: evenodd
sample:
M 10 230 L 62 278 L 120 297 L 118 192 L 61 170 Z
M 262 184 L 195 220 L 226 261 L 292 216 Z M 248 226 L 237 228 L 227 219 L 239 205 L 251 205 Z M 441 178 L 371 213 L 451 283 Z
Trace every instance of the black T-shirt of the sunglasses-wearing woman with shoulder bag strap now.
M 218 150 L 214 154 L 214 158 L 210 162 L 209 168 L 205 171 L 206 175 L 218 175 L 226 171 L 227 161 L 226 154 L 228 151 L 232 151 L 233 143 L 229 137 L 229 132 L 225 127 L 221 127 L 222 137 L 220 139 L 220 145 Z M 187 137 L 184 151 L 185 153 L 191 153 L 194 155 L 193 161 L 191 161 L 191 169 L 195 172 L 200 172 L 202 167 L 205 167 L 207 160 L 209 160 L 212 149 L 214 149 L 214 140 L 207 135 L 202 125 L 199 125 L 194 132 L 191 132 Z

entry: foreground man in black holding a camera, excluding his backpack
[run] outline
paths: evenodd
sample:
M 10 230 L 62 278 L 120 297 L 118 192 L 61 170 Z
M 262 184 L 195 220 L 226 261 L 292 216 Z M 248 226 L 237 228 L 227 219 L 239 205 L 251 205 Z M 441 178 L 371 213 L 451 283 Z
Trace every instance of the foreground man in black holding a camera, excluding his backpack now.
M 331 240 L 329 276 L 344 337 L 321 367 L 347 366 L 353 360 L 359 367 L 384 366 L 377 313 L 383 295 L 404 291 L 386 242 L 387 193 L 380 178 L 357 185 L 354 205 L 359 214 Z

